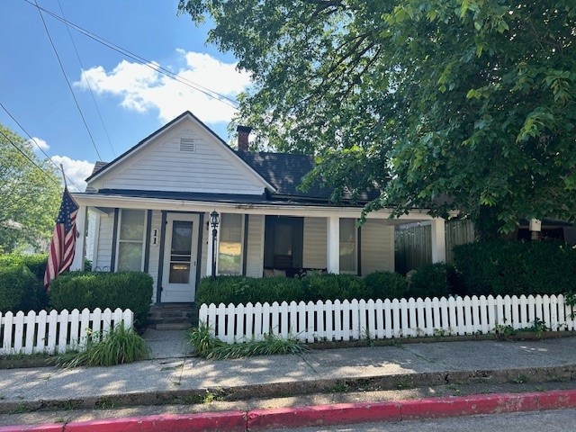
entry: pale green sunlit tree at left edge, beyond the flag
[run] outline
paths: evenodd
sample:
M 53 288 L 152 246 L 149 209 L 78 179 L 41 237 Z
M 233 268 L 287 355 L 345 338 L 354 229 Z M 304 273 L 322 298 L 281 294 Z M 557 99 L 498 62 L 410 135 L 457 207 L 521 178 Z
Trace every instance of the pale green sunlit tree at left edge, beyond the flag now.
M 40 160 L 30 141 L 0 125 L 0 251 L 50 238 L 60 193 L 55 166 Z

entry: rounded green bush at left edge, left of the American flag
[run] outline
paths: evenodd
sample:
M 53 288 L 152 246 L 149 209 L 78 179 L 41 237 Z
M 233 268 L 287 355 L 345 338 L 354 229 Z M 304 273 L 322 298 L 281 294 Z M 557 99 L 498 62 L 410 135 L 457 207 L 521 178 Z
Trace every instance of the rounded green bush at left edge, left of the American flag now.
M 40 311 L 47 303 L 46 293 L 28 266 L 0 266 L 0 311 Z

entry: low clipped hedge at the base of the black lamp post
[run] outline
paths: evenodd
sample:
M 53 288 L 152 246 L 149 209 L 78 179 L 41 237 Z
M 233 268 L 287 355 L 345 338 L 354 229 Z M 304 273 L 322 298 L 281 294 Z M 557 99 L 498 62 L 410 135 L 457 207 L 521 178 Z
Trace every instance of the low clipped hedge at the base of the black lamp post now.
M 198 304 L 239 304 L 247 302 L 292 302 L 302 300 L 302 287 L 298 279 L 284 276 L 246 277 L 217 276 L 205 277 L 198 284 L 196 302 Z

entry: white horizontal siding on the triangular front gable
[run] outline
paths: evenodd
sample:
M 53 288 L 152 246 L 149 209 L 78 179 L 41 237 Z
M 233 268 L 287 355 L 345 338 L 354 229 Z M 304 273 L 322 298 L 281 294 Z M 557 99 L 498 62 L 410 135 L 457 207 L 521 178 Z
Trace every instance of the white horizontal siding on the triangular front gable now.
M 182 151 L 180 139 L 193 139 Z M 96 188 L 261 194 L 264 184 L 200 126 L 186 122 L 158 136 L 94 182 Z

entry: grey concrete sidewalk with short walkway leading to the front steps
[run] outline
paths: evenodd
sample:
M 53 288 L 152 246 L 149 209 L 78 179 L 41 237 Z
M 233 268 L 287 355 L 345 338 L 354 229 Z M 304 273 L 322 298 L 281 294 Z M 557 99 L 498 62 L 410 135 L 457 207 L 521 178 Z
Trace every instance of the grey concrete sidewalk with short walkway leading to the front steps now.
M 0 370 L 0 414 L 17 410 L 193 403 L 300 395 L 362 383 L 398 389 L 446 383 L 572 380 L 576 338 L 410 343 L 312 350 L 302 356 L 207 361 L 190 356 L 185 332 L 148 329 L 153 359 L 130 365 Z M 1 421 L 0 424 L 5 424 Z

